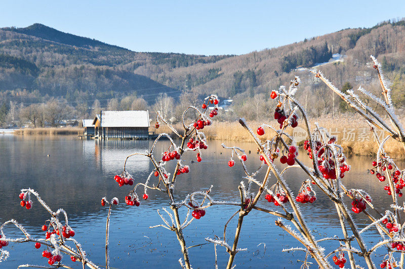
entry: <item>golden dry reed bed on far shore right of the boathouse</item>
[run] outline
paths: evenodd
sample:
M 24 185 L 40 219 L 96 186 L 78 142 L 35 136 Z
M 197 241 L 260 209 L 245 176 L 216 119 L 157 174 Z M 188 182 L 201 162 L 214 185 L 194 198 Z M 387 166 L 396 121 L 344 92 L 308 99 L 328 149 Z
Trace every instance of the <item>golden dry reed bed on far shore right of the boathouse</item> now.
M 269 121 L 264 121 L 269 122 Z M 325 128 L 329 133 L 337 136 L 338 143 L 343 147 L 346 154 L 355 155 L 375 155 L 378 150 L 378 144 L 375 141 L 373 133 L 370 131 L 369 125 L 363 118 L 358 117 L 326 117 L 319 119 L 310 119 L 310 122 L 317 122 L 319 127 Z M 249 126 L 255 131 L 262 122 L 249 122 Z M 275 120 L 271 120 L 269 125 L 278 129 L 278 124 Z M 304 128 L 303 121 L 300 120 L 299 127 Z M 181 124 L 175 124 L 174 128 L 178 130 L 180 134 L 184 131 L 182 130 Z M 311 132 L 315 128 L 314 124 L 310 124 Z M 290 135 L 292 134 L 291 128 L 288 129 Z M 150 131 L 156 133 L 168 133 L 173 135 L 173 132 L 165 125 L 160 125 L 159 129 L 154 127 L 150 128 Z M 269 139 L 274 135 L 273 131 L 265 128 L 265 135 L 263 139 Z M 214 122 L 212 126 L 204 128 L 204 133 L 210 140 L 222 140 L 222 141 L 240 141 L 240 142 L 250 142 L 252 137 L 247 133 L 247 131 L 238 122 Z M 380 140 L 383 140 L 386 135 L 381 132 L 378 133 Z M 299 145 L 303 144 L 298 143 Z M 396 159 L 405 159 L 405 152 L 399 142 L 390 138 L 385 143 L 385 151 L 392 157 Z

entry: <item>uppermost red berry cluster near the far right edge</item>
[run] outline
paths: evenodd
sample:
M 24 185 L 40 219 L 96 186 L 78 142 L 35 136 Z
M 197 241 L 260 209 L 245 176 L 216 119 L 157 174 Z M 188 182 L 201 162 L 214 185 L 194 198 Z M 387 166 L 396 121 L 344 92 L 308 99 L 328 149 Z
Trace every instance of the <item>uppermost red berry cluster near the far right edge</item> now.
M 382 175 L 384 171 L 387 170 L 392 170 L 393 166 L 391 163 L 389 163 L 387 160 L 382 159 L 381 162 L 377 163 L 376 160 L 374 160 L 371 165 L 373 166 L 373 169 L 370 170 L 370 174 L 376 175 L 379 181 L 384 182 L 385 181 L 385 176 Z M 391 173 L 391 172 L 389 172 Z M 405 187 L 405 182 L 404 180 L 400 177 L 401 172 L 399 170 L 395 170 L 392 174 L 392 181 L 395 183 L 394 188 L 395 188 L 395 193 L 398 194 L 399 197 L 402 197 L 402 192 L 401 189 Z M 391 195 L 391 188 L 388 185 L 384 186 L 384 190 L 387 191 L 388 195 Z

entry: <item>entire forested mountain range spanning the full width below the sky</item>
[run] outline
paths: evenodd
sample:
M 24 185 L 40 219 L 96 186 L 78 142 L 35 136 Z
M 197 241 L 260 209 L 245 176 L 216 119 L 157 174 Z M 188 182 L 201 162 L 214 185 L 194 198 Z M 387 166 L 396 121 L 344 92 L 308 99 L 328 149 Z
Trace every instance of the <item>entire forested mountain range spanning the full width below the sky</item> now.
M 295 74 L 303 92 L 316 91 L 321 86 L 308 72 L 313 66 L 339 87 L 348 81 L 374 87 L 370 55 L 387 72 L 405 74 L 405 22 L 344 29 L 240 56 L 135 52 L 36 23 L 0 29 L 0 93 L 27 89 L 70 101 L 136 93 L 153 102 L 159 93 L 177 97 L 186 90 L 243 100 L 268 94 Z

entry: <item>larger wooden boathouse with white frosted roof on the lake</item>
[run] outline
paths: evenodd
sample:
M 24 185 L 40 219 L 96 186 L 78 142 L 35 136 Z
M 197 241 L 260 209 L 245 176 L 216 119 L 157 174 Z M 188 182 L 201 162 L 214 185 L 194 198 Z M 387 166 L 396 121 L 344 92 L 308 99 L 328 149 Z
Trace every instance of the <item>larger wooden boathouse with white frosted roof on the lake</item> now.
M 149 111 L 101 111 L 92 123 L 99 139 L 147 139 Z

